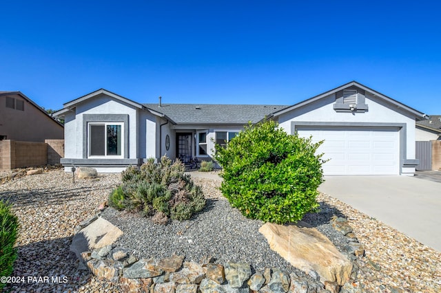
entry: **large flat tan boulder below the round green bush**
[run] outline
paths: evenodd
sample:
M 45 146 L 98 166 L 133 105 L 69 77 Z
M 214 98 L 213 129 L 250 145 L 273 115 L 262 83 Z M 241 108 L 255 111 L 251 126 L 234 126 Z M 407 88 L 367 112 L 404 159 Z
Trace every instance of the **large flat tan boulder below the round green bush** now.
M 294 267 L 307 273 L 317 272 L 321 281 L 343 285 L 349 280 L 351 261 L 317 229 L 266 223 L 259 232 L 265 236 L 269 247 Z

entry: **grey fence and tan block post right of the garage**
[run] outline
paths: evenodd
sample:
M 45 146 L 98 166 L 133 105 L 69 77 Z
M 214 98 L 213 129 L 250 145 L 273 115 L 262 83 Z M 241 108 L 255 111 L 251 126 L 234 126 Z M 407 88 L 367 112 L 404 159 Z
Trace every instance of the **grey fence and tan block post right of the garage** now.
M 416 142 L 415 157 L 420 160 L 418 171 L 441 169 L 441 140 Z

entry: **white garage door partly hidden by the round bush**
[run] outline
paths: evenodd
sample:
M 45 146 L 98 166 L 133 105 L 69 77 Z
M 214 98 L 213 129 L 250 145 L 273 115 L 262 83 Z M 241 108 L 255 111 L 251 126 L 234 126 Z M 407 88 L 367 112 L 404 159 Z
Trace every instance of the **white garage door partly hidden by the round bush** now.
M 325 140 L 318 153 L 325 153 L 325 175 L 398 175 L 400 135 L 393 128 L 300 128 L 301 137 Z

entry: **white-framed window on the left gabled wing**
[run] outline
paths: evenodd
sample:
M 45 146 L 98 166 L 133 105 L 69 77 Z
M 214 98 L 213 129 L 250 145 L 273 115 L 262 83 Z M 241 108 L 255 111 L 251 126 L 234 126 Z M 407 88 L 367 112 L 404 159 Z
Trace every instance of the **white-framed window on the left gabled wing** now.
M 89 157 L 123 158 L 123 128 L 122 122 L 88 123 Z

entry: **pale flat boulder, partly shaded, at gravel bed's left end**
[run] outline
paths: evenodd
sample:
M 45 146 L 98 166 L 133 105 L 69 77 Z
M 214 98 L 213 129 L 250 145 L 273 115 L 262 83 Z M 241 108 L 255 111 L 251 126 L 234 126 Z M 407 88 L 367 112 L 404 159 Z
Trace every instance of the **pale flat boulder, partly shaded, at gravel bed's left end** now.
M 80 258 L 81 252 L 111 245 L 121 235 L 123 235 L 123 231 L 110 221 L 99 217 L 76 233 L 72 239 L 70 250 L 76 254 L 76 257 Z

